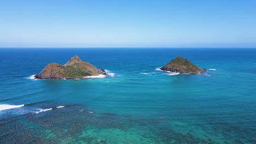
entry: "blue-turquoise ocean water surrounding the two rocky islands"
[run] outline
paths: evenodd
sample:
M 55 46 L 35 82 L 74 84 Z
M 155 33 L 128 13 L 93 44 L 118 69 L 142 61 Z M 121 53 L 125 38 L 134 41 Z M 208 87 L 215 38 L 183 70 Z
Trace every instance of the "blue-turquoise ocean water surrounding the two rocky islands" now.
M 0 143 L 256 143 L 255 53 L 0 49 Z M 74 55 L 112 76 L 30 79 Z M 156 70 L 178 55 L 207 72 Z

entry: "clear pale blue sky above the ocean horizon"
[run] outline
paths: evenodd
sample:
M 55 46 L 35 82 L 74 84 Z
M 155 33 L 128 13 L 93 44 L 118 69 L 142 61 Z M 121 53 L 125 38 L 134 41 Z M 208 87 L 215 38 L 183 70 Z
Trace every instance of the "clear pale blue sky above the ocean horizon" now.
M 3 0 L 0 47 L 256 47 L 256 1 Z

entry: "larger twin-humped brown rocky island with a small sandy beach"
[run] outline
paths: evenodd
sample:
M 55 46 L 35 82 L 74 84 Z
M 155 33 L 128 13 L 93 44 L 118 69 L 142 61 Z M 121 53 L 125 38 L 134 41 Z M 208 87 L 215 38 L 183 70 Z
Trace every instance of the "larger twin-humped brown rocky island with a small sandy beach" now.
M 90 76 L 106 75 L 106 71 L 98 69 L 88 62 L 82 62 L 74 56 L 64 64 L 50 63 L 35 76 L 36 79 L 80 79 Z

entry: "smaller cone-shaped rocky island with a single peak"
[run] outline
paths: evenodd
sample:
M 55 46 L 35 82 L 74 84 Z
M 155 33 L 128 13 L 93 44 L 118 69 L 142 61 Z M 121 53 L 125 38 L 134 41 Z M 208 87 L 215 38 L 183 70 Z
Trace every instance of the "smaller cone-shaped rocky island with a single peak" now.
M 159 68 L 164 71 L 171 71 L 176 73 L 186 73 L 186 74 L 201 74 L 205 72 L 205 69 L 197 67 L 195 64 L 191 63 L 188 59 L 181 56 L 177 56 L 164 65 L 164 67 Z

